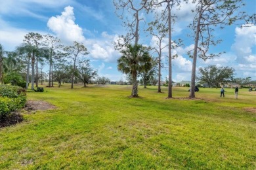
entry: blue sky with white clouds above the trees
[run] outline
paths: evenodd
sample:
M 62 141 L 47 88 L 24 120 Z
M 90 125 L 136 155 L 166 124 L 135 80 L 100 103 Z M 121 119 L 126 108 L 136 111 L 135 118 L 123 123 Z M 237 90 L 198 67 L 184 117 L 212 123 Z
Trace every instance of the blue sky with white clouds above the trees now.
M 246 6 L 243 10 L 249 14 L 256 13 L 255 0 L 244 2 Z M 121 26 L 121 20 L 115 14 L 112 0 L 0 0 L 0 4 L 0 43 L 5 50 L 14 50 L 28 32 L 41 35 L 51 33 L 66 45 L 73 41 L 83 42 L 90 53 L 87 58 L 91 59 L 91 64 L 98 69 L 100 76 L 107 76 L 110 80 L 123 78 L 117 71 L 119 53 L 114 50 L 113 42 L 118 35 L 125 33 L 125 27 Z M 174 26 L 173 39 L 181 38 L 185 45 L 173 50 L 174 54 L 179 55 L 173 60 L 175 82 L 190 80 L 191 76 L 192 59 L 188 58 L 186 51 L 192 49 L 194 42 L 186 34 L 189 31 L 187 25 L 193 19 L 190 12 L 193 8 L 194 5 L 189 3 L 182 4 L 181 10 L 175 10 L 178 19 Z M 146 21 L 152 19 L 152 16 L 145 13 L 142 16 Z M 139 43 L 154 46 L 154 37 L 144 36 L 146 33 L 143 30 L 146 26 L 144 23 L 140 24 L 142 35 Z M 256 80 L 256 25 L 231 25 L 222 30 L 215 29 L 214 35 L 223 39 L 223 42 L 211 48 L 210 52 L 225 51 L 226 54 L 207 61 L 198 59 L 197 67 L 209 64 L 234 67 L 236 77 L 251 76 Z M 164 52 L 167 54 L 167 49 Z M 167 63 L 167 58 L 163 57 L 163 61 Z M 168 75 L 167 68 L 162 70 L 165 80 Z

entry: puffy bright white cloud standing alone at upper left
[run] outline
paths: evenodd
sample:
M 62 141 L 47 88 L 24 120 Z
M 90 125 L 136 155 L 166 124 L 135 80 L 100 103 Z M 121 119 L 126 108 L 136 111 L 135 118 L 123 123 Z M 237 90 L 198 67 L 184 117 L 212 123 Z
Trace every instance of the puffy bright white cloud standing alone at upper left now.
M 83 29 L 75 24 L 73 7 L 65 7 L 60 16 L 52 16 L 47 26 L 64 42 L 83 42 Z

